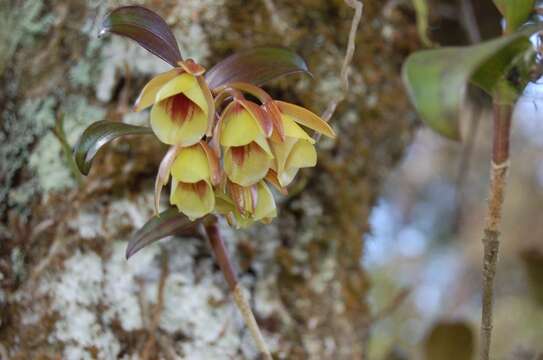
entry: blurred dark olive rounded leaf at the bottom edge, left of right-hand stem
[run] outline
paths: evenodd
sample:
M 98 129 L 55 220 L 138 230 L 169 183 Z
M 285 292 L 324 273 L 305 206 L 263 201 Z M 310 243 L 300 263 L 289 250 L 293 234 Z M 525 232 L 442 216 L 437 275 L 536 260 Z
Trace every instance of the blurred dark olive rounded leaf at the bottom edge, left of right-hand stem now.
M 424 360 L 472 360 L 473 331 L 464 322 L 439 322 L 424 339 Z

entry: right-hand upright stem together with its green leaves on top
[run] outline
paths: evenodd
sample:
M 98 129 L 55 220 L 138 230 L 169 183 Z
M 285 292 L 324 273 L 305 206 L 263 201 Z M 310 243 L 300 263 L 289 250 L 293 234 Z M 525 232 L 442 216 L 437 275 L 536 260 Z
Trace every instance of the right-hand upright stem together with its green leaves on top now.
M 493 287 L 510 161 L 512 108 L 525 85 L 533 80 L 534 74 L 540 73 L 529 38 L 543 28 L 541 24 L 524 25 L 534 12 L 534 0 L 494 0 L 494 3 L 504 17 L 502 37 L 472 46 L 420 51 L 411 55 L 403 66 L 405 86 L 422 120 L 449 139 L 462 138 L 459 114 L 469 83 L 493 99 L 492 171 L 483 236 L 481 360 L 490 357 Z

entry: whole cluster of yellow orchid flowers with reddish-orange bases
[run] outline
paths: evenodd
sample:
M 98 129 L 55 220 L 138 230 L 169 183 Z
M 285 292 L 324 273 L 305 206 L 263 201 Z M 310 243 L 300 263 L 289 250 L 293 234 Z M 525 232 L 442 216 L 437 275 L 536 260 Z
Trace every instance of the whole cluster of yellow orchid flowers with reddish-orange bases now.
M 136 101 L 138 111 L 152 106 L 153 132 L 171 145 L 156 178 L 156 202 L 171 177 L 170 203 L 191 219 L 216 211 L 236 226 L 269 222 L 277 211 L 268 184 L 285 193 L 299 169 L 317 162 L 315 141 L 300 125 L 334 132 L 309 110 L 252 84 L 212 91 L 204 71 L 182 61 L 152 79 Z

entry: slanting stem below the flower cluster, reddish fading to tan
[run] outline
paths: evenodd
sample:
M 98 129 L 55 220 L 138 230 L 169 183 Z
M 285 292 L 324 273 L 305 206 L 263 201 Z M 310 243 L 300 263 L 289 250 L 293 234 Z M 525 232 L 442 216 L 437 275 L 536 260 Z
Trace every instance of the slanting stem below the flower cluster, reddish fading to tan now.
M 215 260 L 221 268 L 224 278 L 228 283 L 228 287 L 232 292 L 232 297 L 234 298 L 234 301 L 236 302 L 236 305 L 241 315 L 243 316 L 243 319 L 245 320 L 245 325 L 247 325 L 249 331 L 251 332 L 251 335 L 253 336 L 256 347 L 258 348 L 264 359 L 272 360 L 273 358 L 270 354 L 270 350 L 268 349 L 268 346 L 264 341 L 264 337 L 262 336 L 254 314 L 251 311 L 251 306 L 243 295 L 243 290 L 238 282 L 236 273 L 234 272 L 232 262 L 230 261 L 230 258 L 228 256 L 228 251 L 224 246 L 224 242 L 222 240 L 217 221 L 214 220 L 211 223 L 207 224 L 205 226 L 205 229 L 207 233 L 207 238 L 211 245 L 211 249 L 215 254 Z

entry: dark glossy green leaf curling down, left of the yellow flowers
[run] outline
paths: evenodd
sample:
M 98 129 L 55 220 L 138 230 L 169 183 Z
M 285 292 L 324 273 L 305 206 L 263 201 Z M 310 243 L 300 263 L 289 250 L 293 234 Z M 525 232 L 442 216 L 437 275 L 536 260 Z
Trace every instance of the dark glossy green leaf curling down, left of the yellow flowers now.
M 97 121 L 85 129 L 74 147 L 75 163 L 83 175 L 88 175 L 92 160 L 102 146 L 124 135 L 152 134 L 148 127 L 114 121 Z

